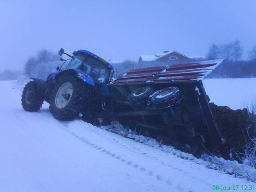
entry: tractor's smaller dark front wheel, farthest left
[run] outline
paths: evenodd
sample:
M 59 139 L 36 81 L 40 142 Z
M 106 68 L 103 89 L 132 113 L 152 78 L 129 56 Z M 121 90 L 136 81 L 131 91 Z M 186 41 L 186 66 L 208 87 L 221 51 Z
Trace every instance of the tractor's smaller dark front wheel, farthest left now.
M 44 96 L 37 90 L 34 81 L 28 82 L 22 92 L 22 107 L 26 111 L 38 111 L 44 102 Z

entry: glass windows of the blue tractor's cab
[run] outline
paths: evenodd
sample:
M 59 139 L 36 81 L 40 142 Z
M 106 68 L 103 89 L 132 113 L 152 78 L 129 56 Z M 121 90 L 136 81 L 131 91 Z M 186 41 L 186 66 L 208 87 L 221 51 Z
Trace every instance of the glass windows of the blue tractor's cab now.
M 67 65 L 66 70 L 77 68 L 91 76 L 97 84 L 105 83 L 109 79 L 110 70 L 93 57 L 86 58 L 83 55 L 75 56 Z

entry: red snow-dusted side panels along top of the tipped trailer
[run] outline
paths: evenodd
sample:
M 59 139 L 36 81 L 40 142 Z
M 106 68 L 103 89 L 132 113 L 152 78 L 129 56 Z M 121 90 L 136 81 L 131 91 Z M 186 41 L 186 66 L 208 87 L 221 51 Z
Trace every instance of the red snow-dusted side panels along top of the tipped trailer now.
M 141 84 L 199 81 L 207 77 L 224 59 L 131 70 L 112 84 Z

